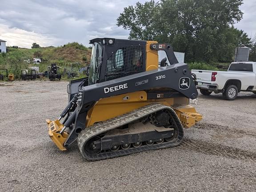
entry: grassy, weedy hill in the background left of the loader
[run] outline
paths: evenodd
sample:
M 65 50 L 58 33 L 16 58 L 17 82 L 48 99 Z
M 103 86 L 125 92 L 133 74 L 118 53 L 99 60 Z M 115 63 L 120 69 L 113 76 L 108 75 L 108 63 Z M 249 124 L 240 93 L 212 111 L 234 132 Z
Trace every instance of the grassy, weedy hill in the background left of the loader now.
M 43 58 L 44 62 L 40 64 L 28 63 L 24 60 L 32 58 Z M 61 47 L 45 48 L 8 48 L 7 53 L 0 54 L 0 68 L 7 68 L 8 73 L 12 73 L 15 79 L 20 78 L 22 69 L 29 69 L 32 66 L 38 66 L 40 72 L 47 71 L 51 63 L 60 66 L 60 72 L 68 68 L 70 63 L 79 62 L 81 67 L 85 66 L 85 61 L 91 58 L 91 49 L 82 44 L 68 43 Z

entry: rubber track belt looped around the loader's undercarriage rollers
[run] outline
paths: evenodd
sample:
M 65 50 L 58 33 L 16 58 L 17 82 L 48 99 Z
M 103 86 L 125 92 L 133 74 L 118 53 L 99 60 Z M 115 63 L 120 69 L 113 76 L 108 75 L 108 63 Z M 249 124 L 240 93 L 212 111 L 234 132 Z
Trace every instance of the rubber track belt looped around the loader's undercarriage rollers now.
M 173 142 L 165 142 L 162 144 L 153 144 L 151 146 L 142 145 L 140 148 L 129 148 L 127 150 L 120 149 L 116 152 L 111 152 L 111 151 L 100 152 L 99 154 L 96 154 L 96 155 L 88 154 L 88 153 L 84 152 L 84 145 L 92 137 L 100 135 L 104 132 L 108 132 L 114 128 L 118 128 L 124 124 L 132 123 L 135 120 L 139 120 L 139 119 L 141 119 L 145 116 L 148 116 L 154 112 L 164 110 L 164 109 L 168 109 L 169 112 L 171 112 L 172 117 L 178 126 L 178 136 L 177 136 L 176 140 L 174 140 Z M 133 110 L 132 112 L 128 112 L 121 116 L 117 116 L 115 118 L 96 123 L 96 124 L 90 126 L 89 128 L 86 128 L 85 130 L 80 132 L 80 134 L 77 138 L 77 143 L 78 143 L 80 152 L 85 159 L 87 159 L 87 160 L 104 160 L 104 159 L 109 159 L 109 158 L 113 158 L 113 157 L 125 156 L 125 155 L 129 155 L 132 153 L 142 152 L 142 151 L 146 151 L 146 150 L 175 147 L 181 143 L 183 136 L 184 136 L 184 130 L 183 130 L 182 124 L 180 123 L 178 116 L 176 115 L 176 112 L 174 112 L 174 110 L 171 107 L 168 107 L 166 105 L 159 104 L 159 103 L 152 103 L 152 104 L 148 104 L 144 107 L 138 108 L 136 110 Z

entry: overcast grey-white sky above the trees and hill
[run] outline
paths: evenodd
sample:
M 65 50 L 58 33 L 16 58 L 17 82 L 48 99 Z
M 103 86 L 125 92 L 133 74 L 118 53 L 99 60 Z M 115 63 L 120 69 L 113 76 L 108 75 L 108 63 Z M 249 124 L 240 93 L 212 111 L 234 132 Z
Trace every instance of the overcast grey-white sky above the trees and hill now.
M 0 0 L 0 39 L 7 45 L 31 48 L 79 42 L 95 37 L 127 38 L 116 26 L 124 7 L 138 0 Z M 146 0 L 140 0 L 144 3 Z M 244 19 L 235 27 L 256 34 L 256 0 L 244 0 Z

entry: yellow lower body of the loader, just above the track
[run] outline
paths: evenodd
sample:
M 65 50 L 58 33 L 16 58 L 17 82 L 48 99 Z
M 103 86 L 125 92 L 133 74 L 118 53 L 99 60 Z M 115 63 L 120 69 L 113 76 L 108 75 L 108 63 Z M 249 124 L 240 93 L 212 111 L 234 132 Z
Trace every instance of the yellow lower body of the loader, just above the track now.
M 202 115 L 198 114 L 194 107 L 188 105 L 188 98 L 186 97 L 147 100 L 146 92 L 140 91 L 99 100 L 88 112 L 86 127 L 128 113 L 150 103 L 160 103 L 172 107 L 184 128 L 190 128 L 202 119 Z

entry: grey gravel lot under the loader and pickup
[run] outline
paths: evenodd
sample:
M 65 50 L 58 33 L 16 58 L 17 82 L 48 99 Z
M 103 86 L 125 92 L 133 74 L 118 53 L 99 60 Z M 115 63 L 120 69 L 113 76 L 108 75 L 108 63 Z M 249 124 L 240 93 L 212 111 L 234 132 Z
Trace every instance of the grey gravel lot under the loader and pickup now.
M 181 146 L 88 162 L 61 152 L 45 119 L 67 104 L 67 82 L 0 83 L 0 191 L 256 191 L 256 95 L 199 96 L 202 120 Z

